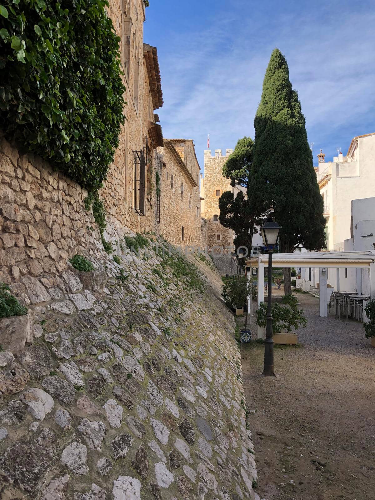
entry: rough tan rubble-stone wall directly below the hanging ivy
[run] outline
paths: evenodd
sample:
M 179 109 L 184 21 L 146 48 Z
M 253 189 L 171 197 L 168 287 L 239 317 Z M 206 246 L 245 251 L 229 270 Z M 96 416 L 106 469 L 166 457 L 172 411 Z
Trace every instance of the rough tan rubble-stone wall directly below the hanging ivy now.
M 45 161 L 19 155 L 0 138 L 0 281 L 26 301 L 48 296 L 49 278 L 44 286 L 36 278 L 56 276 L 66 269 L 68 257 L 100 254 L 99 231 L 84 208 L 85 195 Z

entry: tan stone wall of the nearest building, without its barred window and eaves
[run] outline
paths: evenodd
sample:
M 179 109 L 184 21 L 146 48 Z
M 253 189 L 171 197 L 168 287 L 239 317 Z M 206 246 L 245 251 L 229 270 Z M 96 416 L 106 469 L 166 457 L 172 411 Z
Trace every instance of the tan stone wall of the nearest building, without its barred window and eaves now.
M 143 0 L 109 0 L 109 16 L 118 36 L 121 37 L 121 57 L 124 67 L 123 81 L 126 87 L 124 106 L 125 123 L 119 135 L 119 146 L 114 161 L 110 166 L 101 197 L 104 201 L 111 222 L 118 226 L 126 226 L 130 230 L 154 231 L 156 228 L 155 183 L 151 165 L 155 163 L 155 147 L 149 135 L 149 123 L 154 121 L 153 103 L 150 93 L 145 59 L 143 57 Z M 128 58 L 127 52 L 128 50 Z M 127 63 L 128 60 L 128 63 Z M 139 66 L 138 66 L 139 64 Z M 139 67 L 138 70 L 136 68 Z M 127 70 L 126 70 L 127 68 Z M 136 73 L 138 71 L 138 76 Z M 137 79 L 138 85 L 134 85 Z M 135 86 L 138 90 L 134 93 Z M 147 140 L 146 140 L 147 138 Z M 150 149 L 150 168 L 146 179 L 146 214 L 137 215 L 132 209 L 133 151 Z

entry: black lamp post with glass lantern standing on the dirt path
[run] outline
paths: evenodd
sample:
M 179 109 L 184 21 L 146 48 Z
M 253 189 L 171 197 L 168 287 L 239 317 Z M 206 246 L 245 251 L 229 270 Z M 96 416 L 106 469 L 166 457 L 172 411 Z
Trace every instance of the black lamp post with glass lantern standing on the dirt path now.
M 272 332 L 272 250 L 277 242 L 281 227 L 272 217 L 267 217 L 260 229 L 263 244 L 268 250 L 268 303 L 267 303 L 267 323 L 265 327 L 264 340 L 264 364 L 263 375 L 275 376 L 273 371 L 273 332 Z

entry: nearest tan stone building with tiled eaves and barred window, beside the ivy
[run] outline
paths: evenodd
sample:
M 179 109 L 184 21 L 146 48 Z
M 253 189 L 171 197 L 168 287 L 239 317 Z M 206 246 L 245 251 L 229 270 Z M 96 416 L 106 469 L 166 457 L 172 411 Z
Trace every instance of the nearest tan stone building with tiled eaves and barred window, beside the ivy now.
M 121 61 L 126 87 L 125 123 L 101 197 L 117 227 L 155 231 L 156 148 L 163 145 L 154 110 L 163 104 L 156 47 L 143 43 L 143 0 L 109 0 L 114 29 L 121 38 Z

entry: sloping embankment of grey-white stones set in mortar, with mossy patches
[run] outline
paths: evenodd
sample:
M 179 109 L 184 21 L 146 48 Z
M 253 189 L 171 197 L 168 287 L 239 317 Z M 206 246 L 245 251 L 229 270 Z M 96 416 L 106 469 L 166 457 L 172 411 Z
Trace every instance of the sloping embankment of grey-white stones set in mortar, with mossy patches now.
M 190 257 L 200 293 L 149 252 L 29 276 L 27 315 L 0 320 L 4 500 L 258 498 L 220 276 Z

